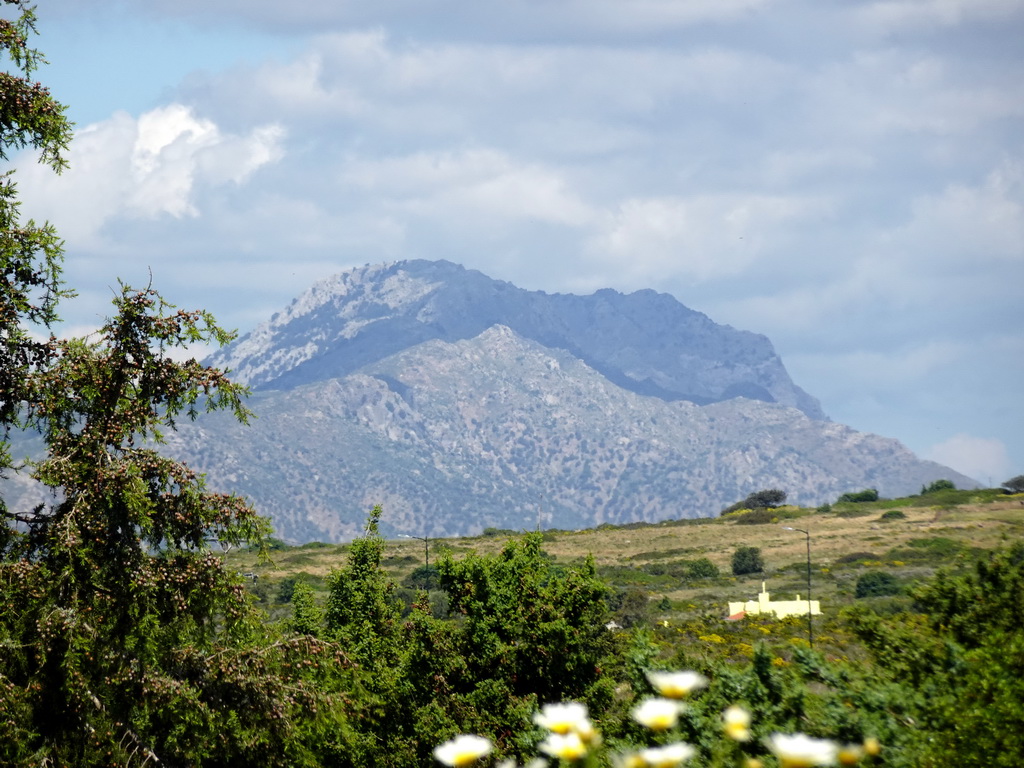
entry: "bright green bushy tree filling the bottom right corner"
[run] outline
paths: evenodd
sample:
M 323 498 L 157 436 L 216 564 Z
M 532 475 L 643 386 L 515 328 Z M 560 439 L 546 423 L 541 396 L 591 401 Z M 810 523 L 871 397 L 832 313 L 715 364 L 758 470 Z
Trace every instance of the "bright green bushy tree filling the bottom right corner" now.
M 1024 731 L 1024 545 L 973 571 L 939 571 L 914 590 L 916 613 L 854 614 L 876 658 L 873 687 L 900 713 L 913 765 L 1017 766 Z

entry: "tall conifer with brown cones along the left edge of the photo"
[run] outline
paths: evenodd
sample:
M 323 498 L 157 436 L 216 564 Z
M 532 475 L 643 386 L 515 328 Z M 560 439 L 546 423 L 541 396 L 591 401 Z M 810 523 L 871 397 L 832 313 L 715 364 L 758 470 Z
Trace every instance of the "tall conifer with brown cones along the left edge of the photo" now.
M 2 2 L 16 18 L 0 19 L 12 70 L 0 73 L 0 158 L 31 147 L 60 171 L 71 124 L 31 79 L 35 16 Z M 178 418 L 246 418 L 242 387 L 170 355 L 229 335 L 122 287 L 97 334 L 39 340 L 70 295 L 61 259 L 52 227 L 19 220 L 4 173 L 0 473 L 25 470 L 52 493 L 33 509 L 0 503 L 0 763 L 308 765 L 297 714 L 318 694 L 294 662 L 337 652 L 266 635 L 219 550 L 259 547 L 267 522 L 157 451 Z M 13 467 L 15 429 L 38 431 L 45 456 Z

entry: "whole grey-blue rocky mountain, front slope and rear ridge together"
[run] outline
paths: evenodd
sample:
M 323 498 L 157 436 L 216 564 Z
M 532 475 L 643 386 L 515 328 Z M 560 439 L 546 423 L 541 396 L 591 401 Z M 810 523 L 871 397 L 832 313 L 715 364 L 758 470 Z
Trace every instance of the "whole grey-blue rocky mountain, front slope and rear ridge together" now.
M 292 542 L 579 528 L 716 515 L 764 487 L 802 504 L 973 481 L 828 421 L 763 336 L 671 296 L 549 295 L 449 262 L 317 283 L 213 355 L 258 418 L 170 451 Z

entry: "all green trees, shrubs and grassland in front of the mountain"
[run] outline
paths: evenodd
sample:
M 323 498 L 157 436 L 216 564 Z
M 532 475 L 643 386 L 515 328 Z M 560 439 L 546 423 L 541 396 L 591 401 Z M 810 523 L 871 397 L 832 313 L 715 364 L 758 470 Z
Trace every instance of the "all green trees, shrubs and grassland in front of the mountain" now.
M 0 78 L 0 157 L 32 147 L 59 170 L 71 127 L 30 79 L 32 11 L 4 2 L 17 17 L 0 22 L 0 49 L 17 74 Z M 885 526 L 759 492 L 737 508 L 771 515 L 756 529 L 729 515 L 488 530 L 445 542 L 433 565 L 418 543 L 384 541 L 375 508 L 350 545 L 288 547 L 158 452 L 177 419 L 247 418 L 242 388 L 171 355 L 228 335 L 123 287 L 93 337 L 38 340 L 67 295 L 59 241 L 18 220 L 3 179 L 0 471 L 15 468 L 9 433 L 35 430 L 46 456 L 28 471 L 53 493 L 33 510 L 0 503 L 0 764 L 406 768 L 465 732 L 521 762 L 543 735 L 535 713 L 559 700 L 585 703 L 618 754 L 648 735 L 630 717 L 656 687 L 645 672 L 673 668 L 700 673 L 672 732 L 702 764 L 777 765 L 776 732 L 878 739 L 894 768 L 1019 762 L 1024 519 L 1002 490 L 939 481 L 836 505 L 888 510 Z M 800 617 L 724 617 L 750 592 L 737 577 L 802 588 L 803 540 L 765 527 L 791 513 L 827 606 L 813 650 Z M 770 573 L 762 547 L 783 563 Z M 752 737 L 728 743 L 735 703 Z

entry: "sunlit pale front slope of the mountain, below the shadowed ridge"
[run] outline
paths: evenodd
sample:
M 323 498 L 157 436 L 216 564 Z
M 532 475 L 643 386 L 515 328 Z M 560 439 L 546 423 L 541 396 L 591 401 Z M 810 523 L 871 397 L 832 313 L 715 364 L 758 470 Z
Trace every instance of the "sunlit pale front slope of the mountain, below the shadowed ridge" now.
M 709 516 L 769 486 L 817 504 L 971 482 L 794 408 L 637 394 L 504 326 L 264 388 L 251 406 L 251 427 L 214 415 L 172 436 L 172 451 L 299 542 L 356 535 L 374 504 L 388 535 L 451 536 Z

